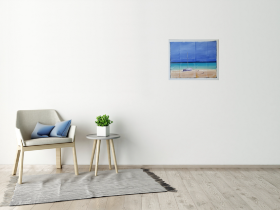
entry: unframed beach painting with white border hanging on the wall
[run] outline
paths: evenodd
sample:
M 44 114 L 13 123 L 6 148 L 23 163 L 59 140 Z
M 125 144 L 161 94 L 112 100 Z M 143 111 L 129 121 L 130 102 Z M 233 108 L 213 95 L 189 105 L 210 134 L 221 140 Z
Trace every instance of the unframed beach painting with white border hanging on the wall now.
M 169 40 L 169 79 L 219 79 L 218 39 Z

